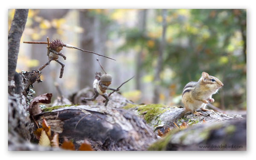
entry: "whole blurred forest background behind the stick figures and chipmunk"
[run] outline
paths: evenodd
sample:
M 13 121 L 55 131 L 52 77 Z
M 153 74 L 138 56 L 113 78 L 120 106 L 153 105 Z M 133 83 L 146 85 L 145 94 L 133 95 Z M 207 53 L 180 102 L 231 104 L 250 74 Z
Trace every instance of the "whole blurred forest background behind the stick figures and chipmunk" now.
M 9 28 L 14 11 L 8 10 Z M 245 9 L 29 9 L 17 72 L 48 61 L 47 45 L 23 43 L 47 36 L 116 61 L 64 47 L 63 78 L 52 61 L 42 70 L 43 82 L 33 85 L 34 96 L 53 93 L 55 99 L 55 82 L 65 97 L 92 87 L 94 73 L 103 73 L 99 58 L 113 77 L 111 87 L 135 76 L 120 89 L 135 103 L 183 106 L 183 87 L 205 71 L 224 83 L 214 106 L 246 110 Z

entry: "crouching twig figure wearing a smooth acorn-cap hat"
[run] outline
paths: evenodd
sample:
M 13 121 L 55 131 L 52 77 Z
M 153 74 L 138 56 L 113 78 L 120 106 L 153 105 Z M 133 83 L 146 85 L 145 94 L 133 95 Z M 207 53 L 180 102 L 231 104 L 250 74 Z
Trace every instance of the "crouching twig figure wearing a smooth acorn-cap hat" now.
M 95 80 L 93 81 L 93 90 L 95 95 L 92 98 L 83 98 L 84 101 L 94 101 L 99 95 L 105 98 L 105 106 L 108 105 L 109 97 L 107 90 L 118 91 L 119 89 L 114 89 L 108 87 L 111 84 L 112 76 L 109 74 L 101 74 L 99 72 L 95 73 Z

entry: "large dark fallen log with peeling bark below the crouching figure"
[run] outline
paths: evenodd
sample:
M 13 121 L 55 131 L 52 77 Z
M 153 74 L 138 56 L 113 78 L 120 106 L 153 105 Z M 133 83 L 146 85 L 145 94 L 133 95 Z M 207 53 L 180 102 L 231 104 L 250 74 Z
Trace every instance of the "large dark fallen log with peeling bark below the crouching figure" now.
M 43 111 L 34 116 L 37 123 L 45 118 L 51 130 L 59 134 L 60 143 L 64 138 L 72 139 L 76 149 L 87 139 L 96 151 L 143 151 L 156 140 L 143 119 L 125 109 L 71 105 Z

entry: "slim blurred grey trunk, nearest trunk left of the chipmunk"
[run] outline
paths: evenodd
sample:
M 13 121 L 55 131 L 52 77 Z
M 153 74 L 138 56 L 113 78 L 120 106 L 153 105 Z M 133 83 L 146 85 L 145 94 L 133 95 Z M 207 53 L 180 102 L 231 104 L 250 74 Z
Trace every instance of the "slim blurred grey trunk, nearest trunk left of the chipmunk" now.
M 160 73 L 163 70 L 163 51 L 165 48 L 165 37 L 166 37 L 166 16 L 167 11 L 166 9 L 162 10 L 162 17 L 163 17 L 163 31 L 162 31 L 162 39 L 160 42 L 160 48 L 159 48 L 159 55 L 157 59 L 157 68 L 154 76 L 154 97 L 153 97 L 153 103 L 157 104 L 159 103 L 159 95 L 160 95 Z

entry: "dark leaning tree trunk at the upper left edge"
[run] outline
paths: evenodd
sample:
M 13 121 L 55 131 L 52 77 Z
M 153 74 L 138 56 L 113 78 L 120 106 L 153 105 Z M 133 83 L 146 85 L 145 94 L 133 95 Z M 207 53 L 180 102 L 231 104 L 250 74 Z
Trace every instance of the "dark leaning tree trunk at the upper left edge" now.
M 16 9 L 8 35 L 8 81 L 14 79 L 20 38 L 26 25 L 29 9 Z

